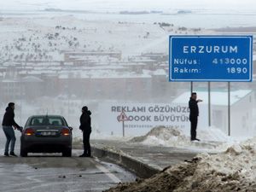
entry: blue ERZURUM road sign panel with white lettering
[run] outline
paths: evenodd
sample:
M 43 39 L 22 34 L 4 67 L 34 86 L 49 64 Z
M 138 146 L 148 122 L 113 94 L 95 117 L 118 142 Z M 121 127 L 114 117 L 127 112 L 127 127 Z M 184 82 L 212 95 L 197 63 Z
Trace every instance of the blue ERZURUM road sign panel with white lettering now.
M 170 36 L 170 81 L 252 81 L 253 36 Z

